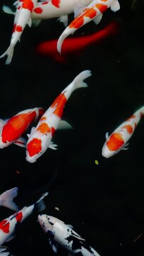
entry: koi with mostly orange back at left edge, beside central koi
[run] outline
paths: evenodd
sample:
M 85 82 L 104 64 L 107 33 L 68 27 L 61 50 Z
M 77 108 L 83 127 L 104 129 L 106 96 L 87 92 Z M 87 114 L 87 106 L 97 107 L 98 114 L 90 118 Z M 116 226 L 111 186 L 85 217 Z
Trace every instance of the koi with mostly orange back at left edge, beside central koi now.
M 26 146 L 26 139 L 21 134 L 26 132 L 29 124 L 41 117 L 45 111 L 41 107 L 19 112 L 10 119 L 0 119 L 0 148 L 3 149 L 10 144 Z

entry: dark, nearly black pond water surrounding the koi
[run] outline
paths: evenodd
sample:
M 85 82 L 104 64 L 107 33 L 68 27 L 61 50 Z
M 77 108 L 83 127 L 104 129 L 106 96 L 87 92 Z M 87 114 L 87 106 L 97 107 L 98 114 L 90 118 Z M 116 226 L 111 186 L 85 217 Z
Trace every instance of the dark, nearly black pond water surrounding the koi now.
M 57 151 L 48 149 L 30 164 L 25 149 L 16 145 L 1 149 L 0 193 L 18 186 L 16 203 L 23 208 L 49 191 L 43 213 L 73 225 L 99 255 L 143 256 L 144 119 L 127 151 L 109 159 L 101 156 L 106 132 L 113 132 L 144 105 L 144 3 L 119 2 L 120 11 L 106 11 L 98 26 L 91 22 L 74 36 L 100 31 L 111 21 L 118 21 L 118 33 L 71 55 L 65 63 L 35 53 L 39 43 L 58 38 L 64 30 L 54 18 L 38 27 L 26 27 L 10 65 L 1 58 L 2 119 L 33 107 L 48 109 L 82 70 L 92 70 L 92 76 L 87 79 L 88 87 L 74 91 L 65 106 L 63 118 L 74 129 L 56 132 L 53 141 L 58 144 Z M 4 4 L 13 6 L 5 0 L 1 9 Z M 12 28 L 13 16 L 1 10 L 1 54 L 9 46 Z M 1 208 L 1 220 L 12 213 Z M 13 255 L 55 255 L 37 216 L 28 217 L 16 238 L 5 244 Z M 57 255 L 67 252 L 60 247 Z

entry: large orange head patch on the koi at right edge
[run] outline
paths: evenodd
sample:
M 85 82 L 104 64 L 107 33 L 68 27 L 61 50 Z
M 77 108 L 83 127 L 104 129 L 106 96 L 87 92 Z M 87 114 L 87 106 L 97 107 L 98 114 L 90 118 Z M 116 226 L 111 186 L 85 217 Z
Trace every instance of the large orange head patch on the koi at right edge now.
M 106 145 L 108 146 L 109 150 L 116 151 L 120 149 L 120 147 L 124 144 L 123 137 L 120 133 L 113 133 L 109 137 L 109 141 L 106 142 Z

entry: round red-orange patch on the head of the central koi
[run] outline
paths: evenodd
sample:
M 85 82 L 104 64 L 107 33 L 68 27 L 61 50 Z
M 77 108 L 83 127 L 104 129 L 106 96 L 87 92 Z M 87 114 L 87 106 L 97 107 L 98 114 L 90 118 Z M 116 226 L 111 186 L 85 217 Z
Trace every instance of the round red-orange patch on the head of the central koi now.
M 28 154 L 34 156 L 42 150 L 41 139 L 34 138 L 27 145 Z

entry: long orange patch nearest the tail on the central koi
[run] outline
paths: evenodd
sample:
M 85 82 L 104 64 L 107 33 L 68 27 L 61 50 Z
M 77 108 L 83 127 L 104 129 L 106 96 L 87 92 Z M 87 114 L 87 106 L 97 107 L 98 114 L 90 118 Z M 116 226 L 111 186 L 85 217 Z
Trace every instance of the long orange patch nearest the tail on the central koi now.
M 56 114 L 58 117 L 62 117 L 63 109 L 65 107 L 66 102 L 67 99 L 64 93 L 60 93 L 60 95 L 55 99 L 55 101 L 51 105 L 51 107 L 55 108 L 53 114 Z

